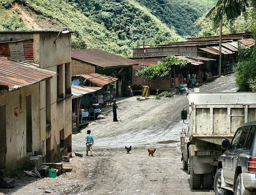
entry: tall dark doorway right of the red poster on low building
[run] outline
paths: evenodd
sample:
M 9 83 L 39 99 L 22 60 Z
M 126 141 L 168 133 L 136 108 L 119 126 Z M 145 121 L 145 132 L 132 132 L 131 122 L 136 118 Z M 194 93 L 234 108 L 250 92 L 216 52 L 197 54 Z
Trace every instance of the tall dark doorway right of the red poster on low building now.
M 26 96 L 26 142 L 27 152 L 32 152 L 32 110 L 31 95 Z

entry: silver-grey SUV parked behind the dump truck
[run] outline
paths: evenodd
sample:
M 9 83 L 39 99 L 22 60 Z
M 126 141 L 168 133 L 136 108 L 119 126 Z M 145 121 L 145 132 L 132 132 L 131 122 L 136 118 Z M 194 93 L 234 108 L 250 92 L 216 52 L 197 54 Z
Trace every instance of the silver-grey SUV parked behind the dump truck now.
M 241 125 L 229 140 L 222 141 L 227 151 L 219 156 L 214 177 L 215 195 L 256 194 L 256 121 Z

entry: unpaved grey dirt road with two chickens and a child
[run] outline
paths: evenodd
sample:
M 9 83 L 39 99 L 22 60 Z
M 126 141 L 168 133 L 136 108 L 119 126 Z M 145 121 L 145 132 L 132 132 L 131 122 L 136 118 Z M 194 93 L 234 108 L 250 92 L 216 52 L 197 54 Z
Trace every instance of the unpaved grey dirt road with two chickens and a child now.
M 205 84 L 200 91 L 236 91 L 234 76 Z M 127 98 L 118 104 L 119 122 L 112 122 L 110 112 L 106 119 L 90 123 L 81 133 L 72 136 L 73 152 L 82 152 L 84 156 L 75 156 L 64 164 L 73 168 L 71 173 L 56 179 L 22 177 L 16 179 L 14 189 L 1 192 L 14 195 L 45 194 L 45 190 L 55 195 L 214 195 L 210 190 L 191 190 L 190 177 L 182 170 L 180 131 L 184 124 L 180 112 L 187 105 L 185 94 L 140 102 L 135 97 Z M 85 156 L 85 135 L 89 129 L 95 140 L 92 157 Z M 132 151 L 127 154 L 124 147 L 130 145 Z M 155 157 L 148 157 L 147 148 L 156 149 Z

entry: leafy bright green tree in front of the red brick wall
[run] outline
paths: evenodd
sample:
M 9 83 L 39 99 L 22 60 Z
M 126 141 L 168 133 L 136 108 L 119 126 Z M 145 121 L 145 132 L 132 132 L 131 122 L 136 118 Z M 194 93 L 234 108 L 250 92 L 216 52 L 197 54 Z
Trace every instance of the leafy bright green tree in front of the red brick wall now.
M 171 76 L 171 69 L 173 65 L 178 65 L 180 68 L 184 67 L 189 62 L 187 60 L 181 60 L 174 55 L 162 58 L 163 62 L 156 65 L 148 66 L 144 69 L 144 77 L 146 81 L 155 80 L 157 76 L 169 77 Z M 136 72 L 137 76 L 142 76 L 143 70 Z

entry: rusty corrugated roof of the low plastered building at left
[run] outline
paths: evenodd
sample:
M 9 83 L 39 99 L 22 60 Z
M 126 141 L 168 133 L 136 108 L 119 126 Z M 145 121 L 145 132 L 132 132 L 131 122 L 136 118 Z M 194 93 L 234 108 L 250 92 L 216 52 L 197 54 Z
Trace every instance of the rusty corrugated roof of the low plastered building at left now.
M 0 85 L 9 91 L 32 85 L 55 75 L 56 72 L 33 68 L 21 62 L 0 57 Z

